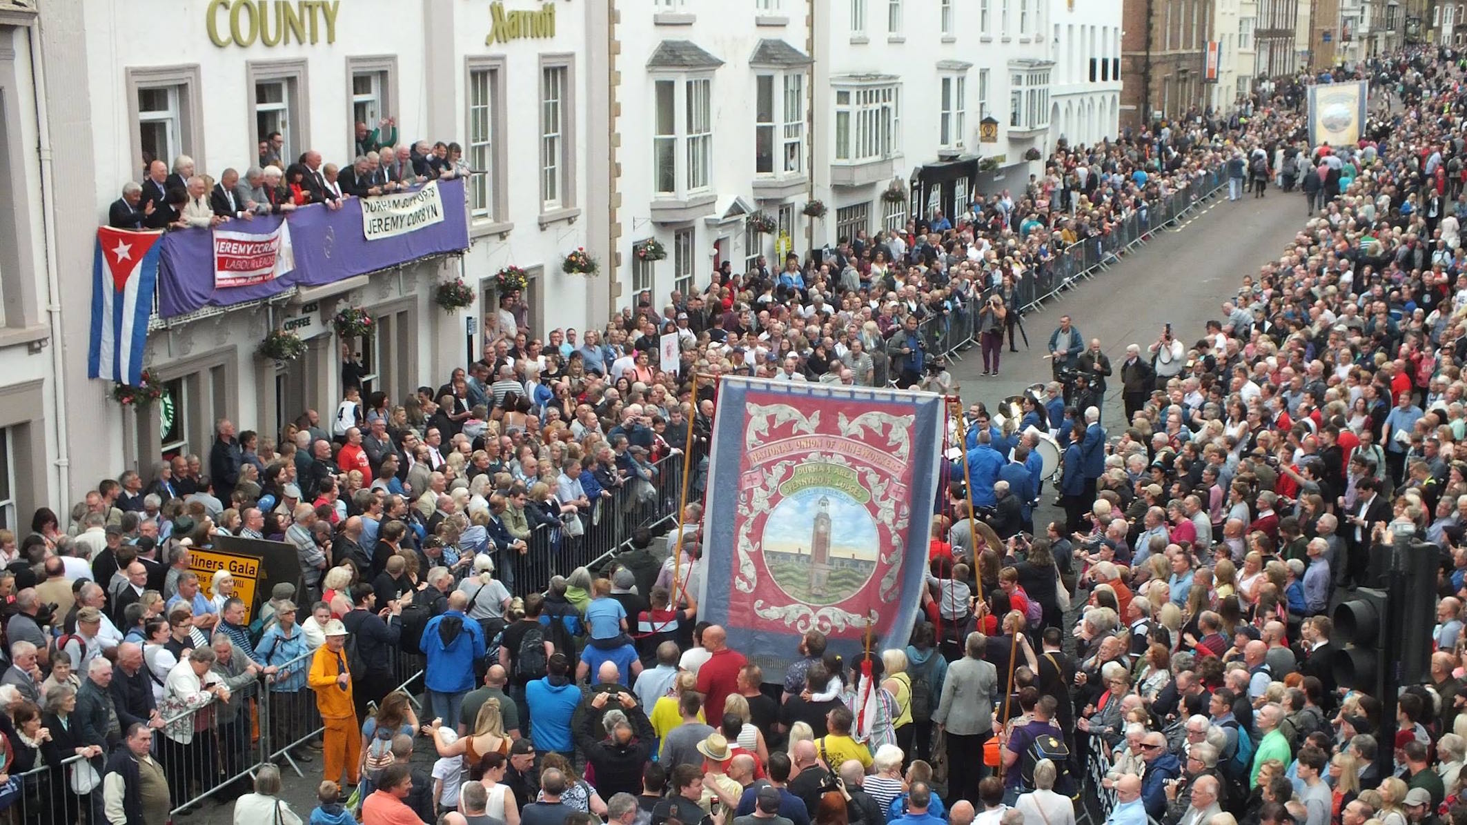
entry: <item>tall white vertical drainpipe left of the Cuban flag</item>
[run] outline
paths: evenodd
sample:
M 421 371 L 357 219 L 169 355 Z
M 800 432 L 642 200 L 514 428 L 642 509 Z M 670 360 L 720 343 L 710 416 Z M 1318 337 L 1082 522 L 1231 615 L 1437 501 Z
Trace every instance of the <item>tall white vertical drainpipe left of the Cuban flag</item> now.
M 51 120 L 45 108 L 45 69 L 41 60 L 41 23 L 31 25 L 31 79 L 35 84 L 35 122 L 38 130 L 38 154 L 41 160 L 41 215 L 45 236 L 45 315 L 50 325 L 51 347 L 51 393 L 54 394 L 56 413 L 51 416 L 51 426 L 56 434 L 56 485 L 59 513 L 65 513 L 70 506 L 70 453 L 66 445 L 66 381 L 63 380 L 65 363 L 62 358 L 62 284 L 60 271 L 56 262 L 56 192 L 54 171 L 51 167 Z

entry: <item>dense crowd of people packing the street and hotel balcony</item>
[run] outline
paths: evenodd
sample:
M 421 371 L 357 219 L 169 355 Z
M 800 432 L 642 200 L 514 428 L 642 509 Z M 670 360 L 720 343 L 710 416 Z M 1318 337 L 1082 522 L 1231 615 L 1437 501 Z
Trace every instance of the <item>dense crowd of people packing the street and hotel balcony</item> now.
M 483 359 L 436 390 L 364 397 L 348 358 L 329 421 L 307 410 L 277 438 L 220 421 L 204 457 L 104 481 L 66 522 L 37 511 L 29 535 L 0 533 L 0 806 L 161 825 L 219 777 L 248 781 L 267 736 L 298 763 L 320 752 L 320 806 L 292 812 L 266 765 L 236 822 L 1067 825 L 1099 793 L 1093 753 L 1113 766 L 1118 825 L 1467 822 L 1467 92 L 1429 51 L 1357 73 L 1405 98 L 1358 145 L 1310 147 L 1298 95 L 1265 95 L 1231 120 L 1061 145 L 1027 190 L 951 220 L 858 232 L 779 271 L 725 265 L 660 308 L 638 295 L 579 338 L 535 338 L 509 293 Z M 358 132 L 362 193 L 389 169 L 452 173 L 431 147 L 384 166 L 395 135 Z M 227 210 L 191 223 L 208 185 L 186 161 L 178 180 L 151 164 L 145 204 L 148 185 L 125 190 L 141 224 L 178 183 L 188 226 L 299 199 L 257 192 L 252 169 L 249 192 L 222 180 Z M 290 183 L 311 192 L 320 155 L 299 166 Z M 810 632 L 794 667 L 763 673 L 698 621 L 700 484 L 672 536 L 631 529 L 666 504 L 659 462 L 707 453 L 714 387 L 694 374 L 951 393 L 920 324 L 971 319 L 998 374 L 1025 280 L 1240 167 L 1287 189 L 1313 177 L 1306 227 L 1206 330 L 1168 325 L 1112 375 L 1065 318 L 1018 428 L 967 410 L 908 643 L 842 661 Z M 667 331 L 676 372 L 654 358 Z M 1052 489 L 1030 426 L 1061 444 Z M 1064 516 L 1036 529 L 1050 495 Z M 513 576 L 533 536 L 562 554 L 612 520 L 629 542 L 609 560 Z M 1336 684 L 1329 610 L 1405 533 L 1441 547 L 1439 626 L 1430 678 L 1388 721 L 1380 696 Z M 189 552 L 219 535 L 292 544 L 299 583 L 254 605 L 226 571 L 205 596 Z

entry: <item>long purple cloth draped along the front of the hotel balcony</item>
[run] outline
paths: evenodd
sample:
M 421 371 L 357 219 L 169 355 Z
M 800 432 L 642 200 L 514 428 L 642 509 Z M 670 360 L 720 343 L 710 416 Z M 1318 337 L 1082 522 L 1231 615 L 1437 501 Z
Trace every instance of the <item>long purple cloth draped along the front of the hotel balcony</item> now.
M 158 273 L 158 315 L 173 318 L 204 306 L 230 306 L 260 300 L 290 287 L 312 287 L 354 275 L 387 270 L 428 255 L 468 249 L 468 212 L 464 208 L 464 180 L 440 180 L 443 220 L 421 229 L 367 240 L 362 236 L 362 207 L 346 198 L 340 210 L 323 205 L 302 207 L 282 215 L 258 215 L 222 224 L 229 232 L 267 236 L 290 223 L 295 270 L 258 284 L 214 289 L 213 230 L 185 229 L 163 237 L 163 265 Z

